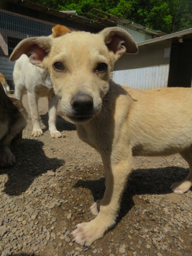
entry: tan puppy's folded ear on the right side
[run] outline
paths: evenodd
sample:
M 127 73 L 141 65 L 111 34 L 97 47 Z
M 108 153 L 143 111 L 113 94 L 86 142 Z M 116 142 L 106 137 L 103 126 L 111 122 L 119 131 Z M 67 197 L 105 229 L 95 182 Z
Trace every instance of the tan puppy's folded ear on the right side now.
M 103 29 L 100 34 L 104 37 L 104 42 L 109 51 L 112 51 L 118 59 L 123 53 L 135 54 L 138 52 L 134 39 L 124 29 L 111 27 Z

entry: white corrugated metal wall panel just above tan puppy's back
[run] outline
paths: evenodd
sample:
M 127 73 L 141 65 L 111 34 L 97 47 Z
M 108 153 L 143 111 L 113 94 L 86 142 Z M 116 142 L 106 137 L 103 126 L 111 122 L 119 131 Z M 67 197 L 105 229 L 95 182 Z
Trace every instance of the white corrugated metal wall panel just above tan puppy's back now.
M 117 84 L 140 90 L 167 87 L 168 78 L 169 65 L 113 71 L 113 81 Z

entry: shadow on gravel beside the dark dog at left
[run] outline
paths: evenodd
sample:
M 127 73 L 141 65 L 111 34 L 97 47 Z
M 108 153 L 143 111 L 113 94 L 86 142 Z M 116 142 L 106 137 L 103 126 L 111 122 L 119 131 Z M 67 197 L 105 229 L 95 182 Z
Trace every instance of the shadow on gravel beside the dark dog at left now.
M 64 164 L 64 160 L 47 157 L 43 145 L 43 142 L 35 139 L 22 140 L 14 152 L 15 166 L 0 169 L 0 175 L 7 174 L 9 178 L 5 183 L 3 192 L 8 195 L 20 195 L 29 188 L 36 177 L 48 170 L 54 172 Z

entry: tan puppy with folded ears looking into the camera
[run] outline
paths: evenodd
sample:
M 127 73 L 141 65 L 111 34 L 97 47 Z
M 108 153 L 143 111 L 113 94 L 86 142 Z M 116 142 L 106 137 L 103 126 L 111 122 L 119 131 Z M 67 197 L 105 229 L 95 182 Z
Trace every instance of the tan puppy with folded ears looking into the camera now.
M 192 89 L 135 90 L 115 84 L 110 74 L 124 52 L 137 53 L 133 38 L 111 27 L 55 40 L 28 38 L 10 57 L 14 61 L 25 53 L 33 64 L 47 68 L 62 111 L 76 123 L 81 140 L 101 154 L 105 194 L 90 208 L 96 218 L 72 232 L 79 244 L 92 244 L 115 224 L 133 156 L 180 153 L 190 172 L 172 190 L 183 194 L 192 185 Z

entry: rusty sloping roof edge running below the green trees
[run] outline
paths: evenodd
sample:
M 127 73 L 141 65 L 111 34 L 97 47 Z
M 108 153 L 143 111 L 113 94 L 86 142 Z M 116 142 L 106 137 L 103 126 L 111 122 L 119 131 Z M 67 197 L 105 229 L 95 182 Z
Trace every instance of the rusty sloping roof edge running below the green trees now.
M 91 11 L 94 13 L 96 12 L 99 15 L 102 15 L 104 17 L 98 17 L 96 15 L 91 15 L 88 13 L 84 13 L 84 16 L 74 15 L 74 14 L 70 14 L 70 13 L 64 13 L 62 11 L 57 11 L 55 9 L 52 9 L 52 8 L 49 8 L 46 6 L 42 6 L 38 3 L 33 3 L 29 0 L 7 0 L 7 1 L 12 2 L 12 3 L 17 3 L 21 6 L 25 6 L 30 9 L 38 10 L 39 12 L 45 12 L 47 14 L 61 17 L 66 20 L 70 20 L 70 21 L 73 21 L 76 23 L 81 23 L 81 24 L 84 24 L 87 26 L 91 26 L 91 27 L 94 27 L 94 28 L 97 28 L 100 30 L 104 29 L 105 27 L 116 26 L 117 23 L 121 23 L 125 26 L 132 28 L 132 29 L 136 29 L 138 31 L 143 31 L 149 35 L 154 36 L 154 37 L 160 37 L 162 35 L 166 35 L 166 33 L 163 33 L 161 31 L 155 31 L 152 29 L 148 29 L 145 26 L 139 25 L 137 23 L 134 23 L 130 20 L 126 20 L 121 17 L 116 17 L 114 15 L 110 15 L 110 14 L 102 12 L 98 9 L 91 9 Z

